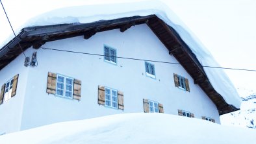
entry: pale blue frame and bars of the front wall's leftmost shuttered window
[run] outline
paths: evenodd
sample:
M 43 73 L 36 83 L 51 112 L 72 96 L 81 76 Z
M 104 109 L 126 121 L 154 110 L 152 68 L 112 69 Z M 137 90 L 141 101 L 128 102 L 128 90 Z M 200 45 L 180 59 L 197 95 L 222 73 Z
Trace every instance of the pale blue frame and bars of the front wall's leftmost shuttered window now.
M 63 78 L 64 78 L 64 82 L 61 82 L 61 83 L 63 83 L 63 85 L 64 85 L 64 86 L 63 86 L 63 89 L 58 88 L 58 77 L 63 77 Z M 66 79 L 67 79 L 67 78 L 72 80 L 72 82 L 71 82 L 71 91 L 68 90 L 69 92 L 71 92 L 71 97 L 66 96 L 66 86 L 67 86 Z M 57 73 L 55 95 L 58 96 L 58 97 L 64 97 L 64 98 L 66 98 L 66 99 L 73 99 L 74 79 L 75 79 L 75 78 L 67 77 L 67 76 L 65 76 L 65 75 L 61 75 L 61 74 L 58 74 L 58 73 Z M 70 85 L 70 84 L 68 84 L 68 85 Z M 63 95 L 58 95 L 58 94 L 57 94 L 57 89 L 63 90 Z

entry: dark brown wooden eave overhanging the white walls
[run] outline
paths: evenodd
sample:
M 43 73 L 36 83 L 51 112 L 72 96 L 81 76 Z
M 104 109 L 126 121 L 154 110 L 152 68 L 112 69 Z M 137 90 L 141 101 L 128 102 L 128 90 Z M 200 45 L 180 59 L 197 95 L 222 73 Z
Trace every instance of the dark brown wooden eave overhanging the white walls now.
M 235 106 L 227 104 L 222 95 L 214 90 L 203 67 L 196 58 L 196 55 L 192 53 L 188 45 L 183 42 L 179 34 L 172 27 L 164 23 L 164 21 L 155 15 L 142 17 L 133 16 L 129 18 L 95 21 L 93 23 L 26 27 L 21 30 L 18 36 L 8 42 L 0 50 L 0 69 L 3 69 L 3 67 L 21 54 L 21 49 L 18 43 L 23 50 L 28 49 L 29 47 L 38 49 L 46 42 L 62 40 L 74 36 L 84 36 L 85 39 L 88 39 L 97 32 L 112 29 L 120 29 L 121 32 L 124 32 L 129 29 L 129 27 L 140 25 L 142 23 L 148 25 L 159 40 L 165 45 L 169 53 L 172 54 L 186 69 L 190 76 L 194 78 L 194 83 L 198 84 L 214 104 L 216 104 L 220 115 L 239 110 L 238 108 L 235 108 Z

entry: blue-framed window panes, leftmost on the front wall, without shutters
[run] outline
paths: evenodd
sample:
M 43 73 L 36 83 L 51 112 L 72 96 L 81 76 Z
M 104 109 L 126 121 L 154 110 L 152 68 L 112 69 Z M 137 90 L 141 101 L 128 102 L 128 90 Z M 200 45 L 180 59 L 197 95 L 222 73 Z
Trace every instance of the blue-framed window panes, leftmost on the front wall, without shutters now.
M 73 78 L 57 75 L 56 95 L 73 98 Z

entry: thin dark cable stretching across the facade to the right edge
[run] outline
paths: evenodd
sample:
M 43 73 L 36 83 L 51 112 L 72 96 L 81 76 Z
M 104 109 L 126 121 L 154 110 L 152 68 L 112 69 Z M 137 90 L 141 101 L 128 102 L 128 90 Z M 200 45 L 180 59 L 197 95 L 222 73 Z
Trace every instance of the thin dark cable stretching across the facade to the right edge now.
M 83 53 L 83 52 L 78 52 L 78 51 L 67 51 L 67 50 L 62 50 L 62 49 L 51 49 L 47 47 L 40 47 L 44 50 L 52 50 L 52 51 L 62 51 L 62 52 L 67 52 L 67 53 L 78 53 L 78 54 L 88 54 L 88 55 L 94 55 L 94 56 L 105 56 L 104 54 L 94 54 L 94 53 Z M 158 63 L 163 63 L 163 64 L 176 64 L 176 65 L 181 65 L 177 62 L 162 62 L 158 60 L 146 60 L 146 59 L 140 59 L 140 58 L 128 58 L 128 57 L 122 57 L 122 56 L 114 56 L 115 58 L 123 58 L 127 60 L 140 60 L 140 61 L 147 61 L 147 62 L 158 62 Z M 214 66 L 202 66 L 202 67 L 209 67 L 209 68 L 216 68 L 216 69 L 231 69 L 231 70 L 238 70 L 238 71 L 255 71 L 255 69 L 238 69 L 238 68 L 231 68 L 231 67 L 214 67 Z

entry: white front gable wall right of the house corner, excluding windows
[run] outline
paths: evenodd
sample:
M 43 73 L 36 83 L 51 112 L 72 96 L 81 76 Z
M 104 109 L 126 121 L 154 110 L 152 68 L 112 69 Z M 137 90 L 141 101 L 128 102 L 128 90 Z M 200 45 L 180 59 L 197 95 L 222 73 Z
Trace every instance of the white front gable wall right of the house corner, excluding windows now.
M 125 32 L 119 29 L 99 32 L 89 40 L 83 36 L 48 42 L 43 47 L 84 53 L 104 54 L 103 45 L 117 50 L 117 56 L 177 62 L 147 25 L 136 25 Z M 29 49 L 27 53 L 36 51 Z M 215 104 L 194 84 L 179 65 L 155 65 L 156 79 L 146 77 L 144 61 L 118 58 L 117 65 L 104 62 L 103 56 L 39 49 L 38 66 L 29 69 L 21 130 L 59 121 L 87 119 L 110 114 L 144 112 L 142 99 L 164 105 L 164 113 L 177 115 L 177 109 L 192 112 L 196 118 L 212 117 L 220 123 Z M 46 93 L 47 72 L 60 73 L 82 80 L 81 101 Z M 173 73 L 188 78 L 190 92 L 175 88 Z M 124 92 L 124 110 L 97 104 L 97 86 Z

